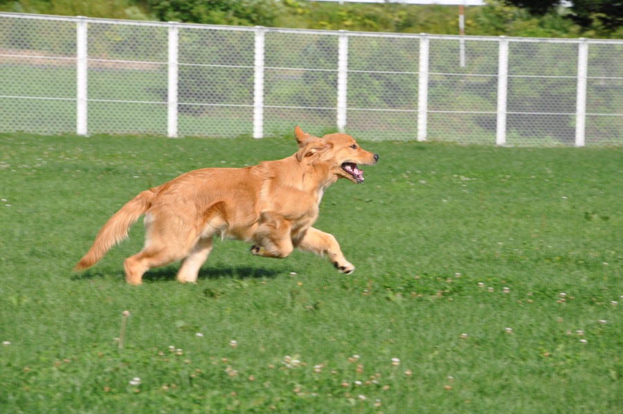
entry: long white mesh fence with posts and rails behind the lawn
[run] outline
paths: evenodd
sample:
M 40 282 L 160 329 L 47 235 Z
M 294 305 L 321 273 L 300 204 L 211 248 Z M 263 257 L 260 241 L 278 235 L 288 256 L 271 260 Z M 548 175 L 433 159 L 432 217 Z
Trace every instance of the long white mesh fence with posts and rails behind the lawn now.
M 0 13 L 0 132 L 623 144 L 623 41 Z

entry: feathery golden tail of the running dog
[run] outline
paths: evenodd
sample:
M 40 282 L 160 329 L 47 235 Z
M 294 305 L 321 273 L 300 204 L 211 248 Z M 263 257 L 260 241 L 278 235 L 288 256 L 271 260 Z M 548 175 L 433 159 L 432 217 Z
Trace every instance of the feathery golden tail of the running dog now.
M 117 213 L 108 219 L 100 229 L 91 249 L 87 251 L 73 270 L 84 270 L 96 264 L 109 249 L 127 238 L 127 231 L 152 206 L 156 193 L 145 190 L 128 201 Z

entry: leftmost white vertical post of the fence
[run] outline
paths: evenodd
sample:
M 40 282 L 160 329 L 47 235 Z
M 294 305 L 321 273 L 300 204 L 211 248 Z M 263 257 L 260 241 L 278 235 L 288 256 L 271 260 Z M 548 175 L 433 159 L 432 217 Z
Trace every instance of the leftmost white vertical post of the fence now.
M 87 18 L 78 16 L 76 26 L 76 101 L 75 101 L 75 118 L 76 118 L 76 134 L 87 135 Z

